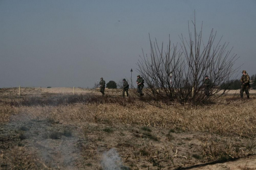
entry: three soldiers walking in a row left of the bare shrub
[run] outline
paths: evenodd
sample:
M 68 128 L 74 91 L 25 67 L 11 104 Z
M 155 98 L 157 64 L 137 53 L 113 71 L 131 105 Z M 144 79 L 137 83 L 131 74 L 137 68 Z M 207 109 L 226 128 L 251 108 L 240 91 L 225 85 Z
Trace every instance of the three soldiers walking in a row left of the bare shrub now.
M 142 88 L 144 87 L 144 79 L 142 77 L 140 77 L 140 75 L 137 75 L 137 93 L 140 94 L 140 96 L 144 95 L 142 93 Z M 100 78 L 100 92 L 102 93 L 102 95 L 105 95 L 104 91 L 105 91 L 105 80 L 103 80 L 103 78 L 101 77 Z M 128 89 L 129 89 L 129 84 L 128 82 L 126 82 L 126 79 L 123 79 L 123 97 L 125 96 L 125 93 L 126 93 L 126 96 L 128 97 L 129 96 L 129 93 L 128 93 Z

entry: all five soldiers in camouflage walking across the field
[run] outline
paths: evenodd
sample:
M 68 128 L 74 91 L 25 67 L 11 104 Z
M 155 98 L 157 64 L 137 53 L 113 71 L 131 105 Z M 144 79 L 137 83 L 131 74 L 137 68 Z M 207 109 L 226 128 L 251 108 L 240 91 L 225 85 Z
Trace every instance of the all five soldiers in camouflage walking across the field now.
M 240 79 L 240 82 L 242 84 L 241 89 L 240 89 L 240 98 L 243 98 L 243 93 L 245 91 L 247 98 L 249 99 L 250 77 L 245 70 L 243 70 L 242 73 L 243 73 L 243 75 Z M 144 95 L 142 93 L 142 89 L 144 87 L 144 79 L 142 79 L 142 77 L 140 77 L 140 75 L 137 75 L 136 83 L 137 83 L 137 93 L 139 93 L 140 96 Z M 102 93 L 102 95 L 104 95 L 105 84 L 106 84 L 106 82 L 101 77 L 100 78 L 100 92 Z M 210 88 L 211 88 L 211 80 L 206 75 L 205 79 L 204 79 L 204 94 L 207 97 L 210 96 Z M 128 82 L 126 82 L 126 79 L 123 79 L 123 97 L 125 96 L 125 93 L 126 93 L 127 97 L 129 96 L 128 89 L 129 89 L 129 84 L 128 84 Z

